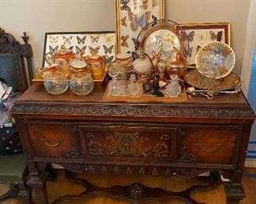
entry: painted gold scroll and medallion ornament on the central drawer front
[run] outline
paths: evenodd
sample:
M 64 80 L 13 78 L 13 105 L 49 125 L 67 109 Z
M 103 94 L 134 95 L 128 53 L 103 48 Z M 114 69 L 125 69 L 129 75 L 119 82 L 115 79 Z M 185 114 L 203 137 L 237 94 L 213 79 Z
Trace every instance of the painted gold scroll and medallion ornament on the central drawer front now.
M 88 155 L 109 155 L 109 156 L 136 156 L 170 158 L 169 149 L 170 136 L 163 134 L 160 141 L 152 147 L 145 144 L 148 137 L 141 136 L 139 133 L 120 133 L 114 132 L 107 136 L 109 144 L 101 144 L 95 139 L 92 133 L 86 133 Z

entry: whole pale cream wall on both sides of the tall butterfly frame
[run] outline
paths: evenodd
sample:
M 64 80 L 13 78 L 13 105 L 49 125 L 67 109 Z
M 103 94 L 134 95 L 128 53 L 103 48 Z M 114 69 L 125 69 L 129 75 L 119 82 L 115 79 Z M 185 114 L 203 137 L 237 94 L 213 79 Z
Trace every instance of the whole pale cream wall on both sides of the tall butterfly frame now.
M 250 0 L 165 0 L 165 16 L 178 23 L 231 22 L 240 74 L 249 5 Z M 113 31 L 114 0 L 0 0 L 0 27 L 19 40 L 27 31 L 40 67 L 45 32 Z

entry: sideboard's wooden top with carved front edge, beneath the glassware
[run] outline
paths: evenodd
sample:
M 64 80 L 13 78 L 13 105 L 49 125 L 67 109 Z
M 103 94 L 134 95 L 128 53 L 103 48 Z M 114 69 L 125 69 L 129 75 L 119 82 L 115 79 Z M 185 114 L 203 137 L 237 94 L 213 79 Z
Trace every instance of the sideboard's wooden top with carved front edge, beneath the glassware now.
M 61 95 L 47 93 L 43 85 L 34 84 L 15 102 L 14 115 L 111 115 L 162 116 L 195 118 L 255 118 L 243 93 L 187 97 L 187 101 L 106 101 L 104 86 L 95 86 L 87 96 L 76 96 L 69 89 Z

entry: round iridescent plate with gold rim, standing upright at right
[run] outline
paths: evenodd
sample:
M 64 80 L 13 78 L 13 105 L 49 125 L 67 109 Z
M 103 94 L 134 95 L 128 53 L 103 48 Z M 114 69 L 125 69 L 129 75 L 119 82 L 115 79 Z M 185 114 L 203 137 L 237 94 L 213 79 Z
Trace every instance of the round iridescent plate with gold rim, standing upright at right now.
M 232 71 L 236 56 L 224 42 L 210 42 L 199 49 L 196 56 L 198 71 L 209 78 L 224 78 Z

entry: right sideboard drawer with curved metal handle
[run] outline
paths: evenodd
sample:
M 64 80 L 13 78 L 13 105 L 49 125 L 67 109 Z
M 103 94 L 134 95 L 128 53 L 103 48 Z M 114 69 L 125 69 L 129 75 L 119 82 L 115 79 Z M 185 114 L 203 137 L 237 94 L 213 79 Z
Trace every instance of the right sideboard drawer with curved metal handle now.
M 178 162 L 236 165 L 241 126 L 187 126 L 177 138 Z

